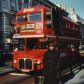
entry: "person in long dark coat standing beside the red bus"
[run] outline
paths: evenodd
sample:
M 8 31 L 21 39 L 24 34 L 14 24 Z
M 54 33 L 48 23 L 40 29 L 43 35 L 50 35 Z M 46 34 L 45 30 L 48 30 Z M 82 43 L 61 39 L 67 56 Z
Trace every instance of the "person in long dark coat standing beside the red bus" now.
M 44 80 L 43 84 L 58 84 L 57 82 L 57 67 L 59 57 L 57 56 L 57 50 L 53 43 L 50 43 L 48 50 L 43 56 L 43 71 Z

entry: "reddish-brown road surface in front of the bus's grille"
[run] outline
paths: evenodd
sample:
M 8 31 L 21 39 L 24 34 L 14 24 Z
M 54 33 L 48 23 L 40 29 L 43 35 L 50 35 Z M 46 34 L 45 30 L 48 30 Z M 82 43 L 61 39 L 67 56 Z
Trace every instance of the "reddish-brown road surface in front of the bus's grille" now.
M 34 78 L 27 74 L 8 73 L 0 76 L 0 84 L 34 84 Z

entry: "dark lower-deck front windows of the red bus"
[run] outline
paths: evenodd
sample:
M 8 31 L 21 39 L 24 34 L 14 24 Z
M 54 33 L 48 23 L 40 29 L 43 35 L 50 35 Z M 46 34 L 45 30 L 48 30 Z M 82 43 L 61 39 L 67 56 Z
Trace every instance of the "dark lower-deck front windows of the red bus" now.
M 33 50 L 33 49 L 47 49 L 48 41 L 39 41 L 37 38 L 14 39 L 14 50 L 18 51 Z

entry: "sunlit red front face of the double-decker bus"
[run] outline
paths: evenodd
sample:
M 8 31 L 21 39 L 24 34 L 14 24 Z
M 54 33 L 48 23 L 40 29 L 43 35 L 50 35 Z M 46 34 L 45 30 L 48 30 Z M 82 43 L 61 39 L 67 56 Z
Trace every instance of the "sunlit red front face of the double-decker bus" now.
M 38 10 L 37 10 L 38 9 Z M 13 68 L 23 72 L 34 71 L 35 64 L 42 69 L 42 56 L 46 51 L 43 7 L 32 7 L 17 12 L 13 34 Z

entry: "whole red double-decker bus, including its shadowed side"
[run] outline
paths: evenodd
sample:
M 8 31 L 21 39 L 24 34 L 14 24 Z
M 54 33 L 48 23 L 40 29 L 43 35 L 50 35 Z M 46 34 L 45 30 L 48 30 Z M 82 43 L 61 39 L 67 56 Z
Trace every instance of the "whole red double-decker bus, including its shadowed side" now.
M 37 64 L 37 70 L 42 70 L 42 58 L 51 40 L 54 44 L 58 41 L 60 60 L 68 66 L 68 60 L 78 56 L 80 26 L 61 14 L 59 8 L 34 6 L 18 11 L 13 34 L 13 68 L 31 72 Z

